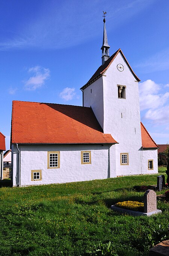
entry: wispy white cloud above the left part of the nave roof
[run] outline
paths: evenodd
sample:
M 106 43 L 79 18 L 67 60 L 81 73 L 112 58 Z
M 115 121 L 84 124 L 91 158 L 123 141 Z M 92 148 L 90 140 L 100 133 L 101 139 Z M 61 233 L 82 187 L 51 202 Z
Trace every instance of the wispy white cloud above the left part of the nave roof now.
M 35 66 L 30 68 L 28 72 L 34 73 L 26 82 L 24 82 L 24 88 L 28 91 L 36 90 L 44 85 L 45 80 L 50 77 L 50 70 L 48 68 L 42 68 Z

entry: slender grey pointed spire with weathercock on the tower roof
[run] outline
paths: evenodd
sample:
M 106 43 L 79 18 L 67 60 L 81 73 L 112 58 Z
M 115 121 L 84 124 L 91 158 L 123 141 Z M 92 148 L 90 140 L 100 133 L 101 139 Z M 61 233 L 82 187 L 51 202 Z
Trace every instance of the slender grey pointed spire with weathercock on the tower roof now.
M 102 50 L 102 65 L 106 62 L 107 59 L 109 59 L 109 48 L 110 46 L 108 45 L 108 40 L 107 40 L 107 32 L 106 32 L 106 20 L 105 20 L 105 14 L 107 12 L 103 11 L 104 14 L 104 30 L 103 30 L 103 45 L 101 46 L 101 50 Z

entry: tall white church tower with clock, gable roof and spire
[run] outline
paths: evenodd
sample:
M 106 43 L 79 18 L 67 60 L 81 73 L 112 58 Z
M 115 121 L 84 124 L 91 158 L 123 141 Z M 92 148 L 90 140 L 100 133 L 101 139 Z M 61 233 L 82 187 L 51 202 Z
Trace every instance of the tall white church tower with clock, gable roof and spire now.
M 139 174 L 142 148 L 140 80 L 121 49 L 109 57 L 105 19 L 103 22 L 102 65 L 81 88 L 83 103 L 93 109 L 103 132 L 111 134 L 119 143 L 111 147 L 116 148 L 112 153 L 116 154 L 116 175 Z

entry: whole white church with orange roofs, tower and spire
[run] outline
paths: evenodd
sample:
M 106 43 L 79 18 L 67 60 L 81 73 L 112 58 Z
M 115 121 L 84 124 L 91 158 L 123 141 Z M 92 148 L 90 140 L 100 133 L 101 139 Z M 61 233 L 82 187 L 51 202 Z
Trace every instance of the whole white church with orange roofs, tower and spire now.
M 81 87 L 83 106 L 13 101 L 13 186 L 158 173 L 158 145 L 140 123 L 139 78 L 121 49 Z

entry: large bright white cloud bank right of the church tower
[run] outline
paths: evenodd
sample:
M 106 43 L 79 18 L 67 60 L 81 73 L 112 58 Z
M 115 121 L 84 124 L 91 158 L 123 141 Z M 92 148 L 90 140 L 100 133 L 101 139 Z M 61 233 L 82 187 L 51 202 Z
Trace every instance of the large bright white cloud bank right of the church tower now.
M 161 93 L 164 85 L 152 80 L 139 84 L 140 110 L 146 110 L 143 118 L 162 125 L 169 123 L 169 92 Z

